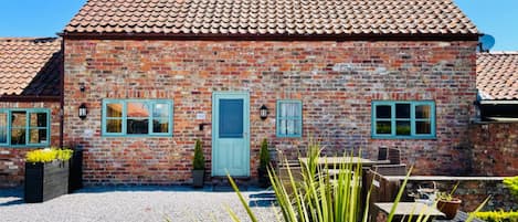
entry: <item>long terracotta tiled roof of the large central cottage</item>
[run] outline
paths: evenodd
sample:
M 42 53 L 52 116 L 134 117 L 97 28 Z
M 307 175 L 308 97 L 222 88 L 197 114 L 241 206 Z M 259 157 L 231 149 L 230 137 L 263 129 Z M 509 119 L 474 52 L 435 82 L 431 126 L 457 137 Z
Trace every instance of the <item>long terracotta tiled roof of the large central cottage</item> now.
M 476 34 L 452 0 L 89 0 L 65 33 Z

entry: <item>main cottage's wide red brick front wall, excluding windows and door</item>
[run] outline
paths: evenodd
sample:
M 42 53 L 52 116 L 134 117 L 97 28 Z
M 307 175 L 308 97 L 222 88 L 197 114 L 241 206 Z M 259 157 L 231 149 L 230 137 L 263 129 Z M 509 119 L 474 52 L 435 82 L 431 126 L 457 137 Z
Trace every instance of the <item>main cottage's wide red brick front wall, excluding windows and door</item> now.
M 249 91 L 251 172 L 260 142 L 295 158 L 309 135 L 328 154 L 398 146 L 421 173 L 459 173 L 475 101 L 476 42 L 254 42 L 65 40 L 65 144 L 85 147 L 86 183 L 184 183 L 195 138 L 210 167 L 211 95 Z M 86 91 L 80 92 L 80 84 Z M 101 135 L 103 98 L 175 102 L 171 138 Z M 276 138 L 275 102 L 303 101 L 304 138 Z M 433 99 L 437 139 L 371 139 L 372 99 Z M 88 106 L 81 120 L 76 109 Z M 258 108 L 269 117 L 263 121 Z M 205 112 L 205 120 L 195 120 Z M 85 134 L 92 131 L 93 134 Z M 370 156 L 373 157 L 373 156 Z M 210 169 L 210 168 L 209 168 Z

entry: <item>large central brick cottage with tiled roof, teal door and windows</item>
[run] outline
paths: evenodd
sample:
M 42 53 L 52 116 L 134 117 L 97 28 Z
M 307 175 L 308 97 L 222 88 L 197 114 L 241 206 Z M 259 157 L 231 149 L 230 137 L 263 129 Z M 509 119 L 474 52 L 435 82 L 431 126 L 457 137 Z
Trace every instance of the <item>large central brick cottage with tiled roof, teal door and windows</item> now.
M 263 138 L 469 170 L 478 31 L 451 0 L 89 0 L 62 38 L 86 184 L 190 183 L 198 138 L 210 177 L 255 178 Z

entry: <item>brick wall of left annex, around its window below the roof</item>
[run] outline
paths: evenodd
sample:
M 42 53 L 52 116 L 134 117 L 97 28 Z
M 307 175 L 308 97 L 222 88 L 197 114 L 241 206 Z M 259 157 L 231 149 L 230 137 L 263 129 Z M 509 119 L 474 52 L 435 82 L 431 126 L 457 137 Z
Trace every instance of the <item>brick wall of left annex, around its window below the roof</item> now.
M 49 108 L 51 110 L 51 146 L 60 146 L 60 103 L 7 103 L 0 108 Z M 15 187 L 23 182 L 25 154 L 35 148 L 46 147 L 1 147 L 0 146 L 0 187 Z

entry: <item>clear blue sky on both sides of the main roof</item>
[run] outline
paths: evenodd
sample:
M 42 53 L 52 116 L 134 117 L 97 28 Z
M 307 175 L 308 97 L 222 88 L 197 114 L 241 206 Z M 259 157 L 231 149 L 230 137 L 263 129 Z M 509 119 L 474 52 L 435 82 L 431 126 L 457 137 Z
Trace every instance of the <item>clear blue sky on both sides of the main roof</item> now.
M 1 0 L 0 36 L 55 36 L 86 0 Z M 518 51 L 518 0 L 454 0 L 480 32 L 491 34 L 491 51 Z

